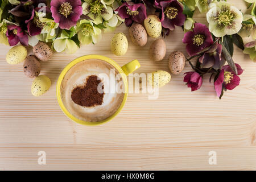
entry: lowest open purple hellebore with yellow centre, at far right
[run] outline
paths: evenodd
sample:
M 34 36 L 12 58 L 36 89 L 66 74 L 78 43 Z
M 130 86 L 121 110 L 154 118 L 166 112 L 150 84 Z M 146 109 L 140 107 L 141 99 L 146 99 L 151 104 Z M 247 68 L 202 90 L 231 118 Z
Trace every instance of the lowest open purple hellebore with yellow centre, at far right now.
M 243 69 L 239 64 L 236 64 L 236 67 L 237 75 L 241 75 Z M 240 84 L 240 77 L 237 75 L 232 71 L 229 65 L 222 67 L 220 75 L 218 75 L 217 80 L 214 81 L 214 88 L 218 97 L 221 96 L 222 86 L 224 86 L 225 89 L 233 90 Z

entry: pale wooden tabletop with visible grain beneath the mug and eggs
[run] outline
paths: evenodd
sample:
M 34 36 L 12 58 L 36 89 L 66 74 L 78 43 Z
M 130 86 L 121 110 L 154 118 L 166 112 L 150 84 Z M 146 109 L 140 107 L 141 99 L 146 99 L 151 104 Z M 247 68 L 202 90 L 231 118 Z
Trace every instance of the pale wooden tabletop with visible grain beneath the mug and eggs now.
M 245 10 L 242 1 L 237 7 Z M 203 15 L 197 21 L 205 22 Z M 125 32 L 125 26 L 115 32 Z M 138 73 L 168 71 L 172 51 L 185 53 L 183 31 L 177 27 L 165 39 L 166 59 L 154 63 L 148 56 L 153 39 L 146 46 L 133 46 L 129 36 L 126 55 L 114 56 L 104 34 L 96 46 L 82 46 L 74 55 L 55 53 L 42 64 L 41 74 L 52 80 L 41 97 L 30 93 L 32 79 L 24 76 L 22 64 L 9 65 L 10 49 L 0 46 L 0 170 L 9 169 L 256 169 L 256 64 L 238 48 L 234 60 L 245 69 L 241 85 L 224 94 L 221 101 L 205 76 L 203 86 L 190 92 L 183 73 L 172 76 L 160 89 L 158 100 L 147 94 L 130 94 L 121 113 L 101 126 L 88 127 L 69 121 L 56 101 L 55 86 L 61 70 L 86 54 L 105 55 L 123 65 L 138 59 Z M 38 151 L 46 151 L 47 164 L 38 164 Z M 208 164 L 208 152 L 217 152 L 217 165 Z

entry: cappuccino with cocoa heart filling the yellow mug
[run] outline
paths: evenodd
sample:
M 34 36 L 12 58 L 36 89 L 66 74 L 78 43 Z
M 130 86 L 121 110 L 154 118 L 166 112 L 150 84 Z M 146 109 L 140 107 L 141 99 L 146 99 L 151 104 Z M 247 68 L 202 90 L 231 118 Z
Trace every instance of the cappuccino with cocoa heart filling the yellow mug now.
M 89 122 L 102 121 L 113 115 L 122 104 L 125 93 L 110 85 L 113 84 L 110 80 L 112 73 L 114 85 L 119 85 L 122 91 L 122 77 L 106 61 L 88 59 L 73 65 L 60 86 L 61 100 L 69 113 Z

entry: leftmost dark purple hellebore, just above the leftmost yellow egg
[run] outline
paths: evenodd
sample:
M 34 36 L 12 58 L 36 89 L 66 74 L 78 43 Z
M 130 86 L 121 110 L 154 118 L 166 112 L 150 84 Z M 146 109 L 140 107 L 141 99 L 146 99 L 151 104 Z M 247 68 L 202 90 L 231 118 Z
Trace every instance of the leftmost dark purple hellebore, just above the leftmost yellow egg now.
M 19 26 L 11 24 L 7 26 L 6 36 L 10 46 L 15 46 L 20 42 L 23 46 L 28 46 L 28 36 Z

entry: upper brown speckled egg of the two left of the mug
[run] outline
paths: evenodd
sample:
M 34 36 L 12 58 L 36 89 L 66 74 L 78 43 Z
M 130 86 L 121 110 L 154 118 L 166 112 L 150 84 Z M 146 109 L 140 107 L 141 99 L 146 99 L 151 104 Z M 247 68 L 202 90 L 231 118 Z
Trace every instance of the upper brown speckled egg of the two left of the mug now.
M 43 42 L 38 42 L 38 44 L 33 47 L 33 52 L 41 61 L 48 61 L 52 57 L 52 49 Z

